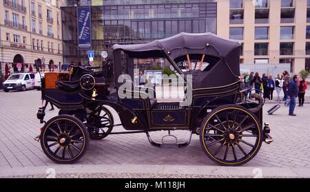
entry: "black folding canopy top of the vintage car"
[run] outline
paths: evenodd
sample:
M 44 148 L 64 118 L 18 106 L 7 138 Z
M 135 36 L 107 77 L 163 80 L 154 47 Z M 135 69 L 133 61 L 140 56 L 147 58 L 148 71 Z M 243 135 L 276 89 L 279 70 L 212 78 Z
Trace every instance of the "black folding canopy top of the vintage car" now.
M 238 81 L 240 76 L 240 43 L 231 39 L 223 39 L 211 33 L 189 34 L 182 32 L 167 39 L 134 45 L 114 45 L 114 78 L 121 74 L 121 51 L 127 54 L 127 73 L 133 76 L 132 58 L 165 57 L 180 74 L 192 74 L 194 89 L 211 88 L 230 85 Z M 209 63 L 203 71 L 189 70 L 182 72 L 176 65 L 186 60 L 186 56 Z

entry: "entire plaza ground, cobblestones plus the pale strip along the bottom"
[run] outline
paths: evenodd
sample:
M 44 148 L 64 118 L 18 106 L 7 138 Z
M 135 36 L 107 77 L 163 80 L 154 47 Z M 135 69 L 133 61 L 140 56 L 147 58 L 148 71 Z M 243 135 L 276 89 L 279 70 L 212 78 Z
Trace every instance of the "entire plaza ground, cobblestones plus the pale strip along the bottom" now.
M 35 115 L 41 106 L 40 96 L 37 90 L 0 91 L 0 177 L 42 178 L 50 169 L 60 178 L 253 178 L 260 173 L 267 178 L 310 177 L 310 104 L 296 107 L 296 117 L 288 116 L 289 109 L 282 104 L 275 114 L 267 115 L 274 104 L 265 104 L 263 121 L 269 122 L 274 141 L 263 143 L 257 156 L 240 167 L 220 167 L 209 160 L 196 135 L 188 147 L 161 149 L 150 145 L 145 134 L 90 140 L 90 148 L 79 162 L 61 165 L 45 156 L 34 141 L 42 126 Z M 57 113 L 47 111 L 45 120 Z M 113 114 L 118 123 L 116 112 Z M 165 134 L 167 131 L 156 131 L 151 136 L 159 141 Z M 172 134 L 182 141 L 187 140 L 189 131 Z

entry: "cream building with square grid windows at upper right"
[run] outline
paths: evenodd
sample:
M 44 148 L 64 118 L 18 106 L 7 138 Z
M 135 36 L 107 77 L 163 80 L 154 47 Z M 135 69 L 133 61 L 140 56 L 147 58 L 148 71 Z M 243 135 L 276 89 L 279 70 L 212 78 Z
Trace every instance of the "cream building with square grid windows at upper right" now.
M 240 63 L 310 69 L 310 1 L 218 0 L 218 35 L 242 43 Z

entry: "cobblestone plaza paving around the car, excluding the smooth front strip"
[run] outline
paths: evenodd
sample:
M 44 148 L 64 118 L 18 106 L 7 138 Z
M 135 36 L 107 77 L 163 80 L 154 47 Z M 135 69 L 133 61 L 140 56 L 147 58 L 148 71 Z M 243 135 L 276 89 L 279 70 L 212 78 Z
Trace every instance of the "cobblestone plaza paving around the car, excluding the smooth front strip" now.
M 56 165 L 41 150 L 34 136 L 39 134 L 35 114 L 41 105 L 40 92 L 0 92 L 0 170 L 18 167 Z M 265 143 L 258 155 L 242 167 L 293 167 L 310 168 L 310 105 L 296 107 L 296 117 L 288 116 L 288 107 L 281 105 L 275 114 L 267 115 L 264 106 L 264 122 L 269 122 L 274 141 Z M 49 109 L 49 107 L 48 107 Z M 45 119 L 57 115 L 57 110 L 47 111 Z M 115 115 L 115 112 L 114 112 Z M 118 117 L 114 117 L 118 123 Z M 116 127 L 121 131 L 121 127 Z M 174 133 L 176 132 L 176 133 Z M 151 133 L 154 140 L 161 140 L 167 131 Z M 189 131 L 172 131 L 180 140 L 187 140 Z M 76 164 L 172 164 L 214 166 L 200 147 L 199 138 L 183 149 L 159 149 L 149 144 L 145 134 L 111 135 L 103 140 L 90 140 L 90 148 Z

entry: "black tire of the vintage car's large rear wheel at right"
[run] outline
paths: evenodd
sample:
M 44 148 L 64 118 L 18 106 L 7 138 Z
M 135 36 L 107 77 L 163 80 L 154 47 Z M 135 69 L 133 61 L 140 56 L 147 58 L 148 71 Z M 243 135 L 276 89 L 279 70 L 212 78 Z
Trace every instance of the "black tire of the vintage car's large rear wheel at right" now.
M 224 160 L 220 160 L 220 159 L 216 158 L 216 155 L 213 156 L 213 154 L 211 154 L 211 151 L 209 151 L 207 149 L 207 146 L 205 144 L 205 134 L 204 134 L 204 132 L 206 130 L 208 121 L 211 120 L 211 118 L 213 116 L 215 116 L 215 114 L 217 114 L 220 111 L 225 111 L 225 109 L 238 109 L 240 111 L 244 111 L 245 114 L 247 114 L 248 116 L 251 116 L 251 119 L 254 120 L 254 122 L 255 122 L 254 125 L 256 125 L 256 129 L 255 130 L 257 131 L 256 134 L 258 134 L 258 137 L 257 137 L 258 139 L 256 139 L 256 143 L 255 143 L 255 145 L 254 145 L 254 147 L 252 149 L 254 151 L 251 150 L 249 152 L 249 154 L 250 154 L 249 157 L 244 158 L 244 159 L 240 158 L 240 161 L 239 160 L 235 160 L 235 162 L 234 161 L 225 162 Z M 240 105 L 223 105 L 223 106 L 220 106 L 220 107 L 216 107 L 209 114 L 207 114 L 207 116 L 203 120 L 203 123 L 202 123 L 201 128 L 200 128 L 200 145 L 203 148 L 203 151 L 205 152 L 205 154 L 211 160 L 213 160 L 214 162 L 216 162 L 216 163 L 218 163 L 220 165 L 224 165 L 224 166 L 238 166 L 240 164 L 245 164 L 246 162 L 249 162 L 249 160 L 254 158 L 254 156 L 256 156 L 256 154 L 258 153 L 258 151 L 259 151 L 259 149 L 260 149 L 260 147 L 262 145 L 262 138 L 263 138 L 263 133 L 262 133 L 262 125 L 260 125 L 260 121 L 258 120 L 258 118 L 256 118 L 256 116 L 254 115 L 253 112 L 251 112 L 249 109 L 247 109 L 245 107 L 242 107 Z M 229 145 L 228 145 L 228 148 L 229 148 Z

